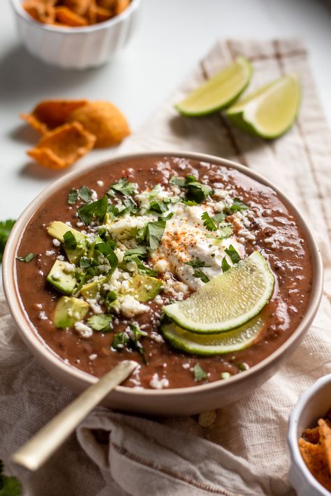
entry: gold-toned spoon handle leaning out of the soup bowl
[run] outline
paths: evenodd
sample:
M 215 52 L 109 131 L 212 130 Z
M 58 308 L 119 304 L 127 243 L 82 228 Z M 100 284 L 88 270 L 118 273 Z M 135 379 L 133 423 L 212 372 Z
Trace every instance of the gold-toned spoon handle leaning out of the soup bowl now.
M 30 470 L 37 470 L 56 451 L 78 424 L 91 412 L 112 389 L 121 384 L 138 365 L 135 361 L 122 361 L 95 384 L 73 400 L 70 405 L 54 416 L 21 448 L 11 460 Z

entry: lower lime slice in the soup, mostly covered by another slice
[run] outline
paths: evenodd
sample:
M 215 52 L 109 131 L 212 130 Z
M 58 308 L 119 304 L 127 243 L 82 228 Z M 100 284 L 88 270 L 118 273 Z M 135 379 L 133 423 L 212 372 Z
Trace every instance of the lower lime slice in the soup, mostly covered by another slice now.
M 161 331 L 170 345 L 177 350 L 196 355 L 219 355 L 247 348 L 263 329 L 263 320 L 255 317 L 238 329 L 219 334 L 196 334 L 176 324 L 163 324 Z

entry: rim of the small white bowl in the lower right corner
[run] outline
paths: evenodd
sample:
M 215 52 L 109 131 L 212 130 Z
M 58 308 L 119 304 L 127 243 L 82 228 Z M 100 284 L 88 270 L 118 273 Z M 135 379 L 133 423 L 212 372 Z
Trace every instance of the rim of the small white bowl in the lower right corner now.
M 323 496 L 330 496 L 330 491 L 323 488 L 321 483 L 319 483 L 318 480 L 315 479 L 314 475 L 311 474 L 309 468 L 304 463 L 304 459 L 302 458 L 300 453 L 299 445 L 297 444 L 297 426 L 303 410 L 305 409 L 307 403 L 311 401 L 311 397 L 314 396 L 314 393 L 321 391 L 321 389 L 323 389 L 325 385 L 329 384 L 330 382 L 331 374 L 323 375 L 323 377 L 317 379 L 314 384 L 312 384 L 308 389 L 306 389 L 306 391 L 304 391 L 304 393 L 302 393 L 300 398 L 297 400 L 295 407 L 290 413 L 287 435 L 287 444 L 288 450 L 290 451 L 291 462 L 300 470 L 304 478 L 307 479 L 307 482 L 309 482 L 309 484 L 313 486 L 320 495 Z

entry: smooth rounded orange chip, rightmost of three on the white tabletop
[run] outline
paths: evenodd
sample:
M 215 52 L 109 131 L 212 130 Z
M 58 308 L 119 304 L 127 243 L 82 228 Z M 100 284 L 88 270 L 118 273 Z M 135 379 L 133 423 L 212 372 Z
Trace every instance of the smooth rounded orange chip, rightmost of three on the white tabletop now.
M 96 146 L 112 146 L 130 134 L 126 118 L 110 102 L 89 102 L 73 112 L 68 122 L 78 121 L 96 136 Z

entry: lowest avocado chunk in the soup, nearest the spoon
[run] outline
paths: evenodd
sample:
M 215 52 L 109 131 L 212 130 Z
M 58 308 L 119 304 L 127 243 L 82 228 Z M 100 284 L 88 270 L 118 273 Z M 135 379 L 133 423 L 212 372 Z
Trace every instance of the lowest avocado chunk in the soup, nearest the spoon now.
M 78 298 L 62 296 L 55 307 L 53 323 L 59 329 L 72 327 L 86 317 L 89 312 L 89 304 Z

